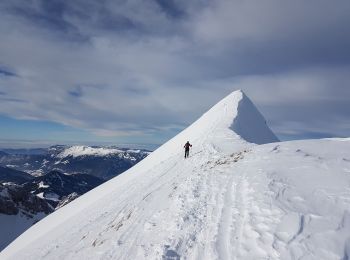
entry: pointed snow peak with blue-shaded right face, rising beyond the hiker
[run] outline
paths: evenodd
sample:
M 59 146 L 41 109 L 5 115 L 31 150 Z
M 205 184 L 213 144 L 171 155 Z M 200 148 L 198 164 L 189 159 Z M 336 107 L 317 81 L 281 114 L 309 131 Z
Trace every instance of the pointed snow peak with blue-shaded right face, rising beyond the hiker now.
M 229 136 L 223 147 L 217 147 L 222 150 L 230 145 L 247 146 L 247 142 L 263 144 L 278 141 L 264 117 L 242 90 L 223 98 L 168 143 L 185 143 L 187 140 L 198 143 L 197 140 L 207 140 L 203 139 L 204 136 L 210 139 Z M 164 146 L 167 147 L 168 143 Z

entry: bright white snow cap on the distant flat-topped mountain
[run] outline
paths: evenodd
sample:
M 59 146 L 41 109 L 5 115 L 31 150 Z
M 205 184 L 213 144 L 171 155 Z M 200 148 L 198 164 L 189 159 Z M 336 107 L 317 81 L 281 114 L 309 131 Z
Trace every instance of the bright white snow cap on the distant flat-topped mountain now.
M 106 156 L 109 154 L 122 153 L 122 150 L 114 148 L 95 148 L 89 146 L 71 146 L 57 155 L 58 158 L 65 158 L 68 156 L 79 157 L 79 156 Z

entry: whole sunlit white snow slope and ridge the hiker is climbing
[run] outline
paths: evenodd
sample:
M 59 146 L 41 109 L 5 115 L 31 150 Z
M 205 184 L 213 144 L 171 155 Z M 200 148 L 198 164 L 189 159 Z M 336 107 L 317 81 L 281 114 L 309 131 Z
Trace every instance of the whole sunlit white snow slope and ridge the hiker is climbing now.
M 242 98 L 232 93 L 0 258 L 349 259 L 350 140 L 248 143 L 232 131 Z

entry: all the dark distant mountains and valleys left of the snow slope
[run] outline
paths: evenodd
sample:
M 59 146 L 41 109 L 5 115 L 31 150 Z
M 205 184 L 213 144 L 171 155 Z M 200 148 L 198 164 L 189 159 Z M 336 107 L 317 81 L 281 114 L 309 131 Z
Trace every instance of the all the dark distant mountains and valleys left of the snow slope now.
M 61 145 L 0 151 L 0 250 L 40 219 L 149 153 Z

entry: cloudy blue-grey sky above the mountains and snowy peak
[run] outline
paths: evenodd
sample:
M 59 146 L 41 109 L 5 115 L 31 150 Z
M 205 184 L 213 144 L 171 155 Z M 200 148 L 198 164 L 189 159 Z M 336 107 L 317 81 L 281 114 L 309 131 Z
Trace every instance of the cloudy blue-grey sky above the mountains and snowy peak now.
M 350 136 L 348 0 L 2 0 L 0 147 L 161 144 L 242 89 L 281 140 Z

